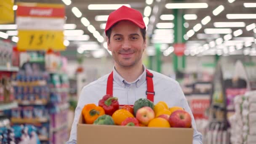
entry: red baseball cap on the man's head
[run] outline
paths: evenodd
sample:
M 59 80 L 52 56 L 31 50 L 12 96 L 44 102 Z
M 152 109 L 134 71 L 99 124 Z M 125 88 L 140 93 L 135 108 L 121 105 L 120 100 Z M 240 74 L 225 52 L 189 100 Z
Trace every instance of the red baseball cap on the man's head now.
M 146 27 L 140 11 L 123 5 L 109 14 L 105 28 L 105 34 L 107 30 L 109 30 L 115 23 L 123 20 L 132 21 L 141 29 L 144 29 Z

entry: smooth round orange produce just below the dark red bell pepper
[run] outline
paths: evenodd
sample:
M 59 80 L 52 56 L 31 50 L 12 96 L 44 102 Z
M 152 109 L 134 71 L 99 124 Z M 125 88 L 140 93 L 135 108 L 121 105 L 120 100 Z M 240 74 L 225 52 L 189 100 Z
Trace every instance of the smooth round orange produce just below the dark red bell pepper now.
M 134 117 L 131 112 L 125 109 L 118 109 L 112 115 L 113 120 L 116 125 L 121 125 L 121 123 L 128 117 Z

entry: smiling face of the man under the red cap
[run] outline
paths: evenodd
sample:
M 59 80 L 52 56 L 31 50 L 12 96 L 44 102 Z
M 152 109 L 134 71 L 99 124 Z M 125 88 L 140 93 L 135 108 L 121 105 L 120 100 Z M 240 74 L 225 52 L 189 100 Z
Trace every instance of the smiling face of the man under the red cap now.
M 146 47 L 140 28 L 131 21 L 120 21 L 112 28 L 108 49 L 120 67 L 142 64 L 141 57 Z

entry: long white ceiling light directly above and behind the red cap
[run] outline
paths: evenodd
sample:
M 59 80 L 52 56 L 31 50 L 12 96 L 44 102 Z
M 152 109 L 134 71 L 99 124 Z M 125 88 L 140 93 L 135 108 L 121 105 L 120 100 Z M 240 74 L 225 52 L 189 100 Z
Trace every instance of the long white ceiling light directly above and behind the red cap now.
M 99 4 L 99 5 L 91 4 L 91 5 L 88 5 L 88 9 L 89 10 L 116 10 L 123 5 L 131 8 L 131 5 L 129 4 Z

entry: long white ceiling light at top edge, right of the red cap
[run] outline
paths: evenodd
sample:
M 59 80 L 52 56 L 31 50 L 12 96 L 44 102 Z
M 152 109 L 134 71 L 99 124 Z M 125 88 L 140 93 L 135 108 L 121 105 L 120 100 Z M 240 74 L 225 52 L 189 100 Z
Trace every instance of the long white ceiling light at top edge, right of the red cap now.
M 177 9 L 177 8 L 208 8 L 207 3 L 167 3 L 165 8 Z

